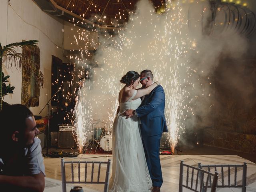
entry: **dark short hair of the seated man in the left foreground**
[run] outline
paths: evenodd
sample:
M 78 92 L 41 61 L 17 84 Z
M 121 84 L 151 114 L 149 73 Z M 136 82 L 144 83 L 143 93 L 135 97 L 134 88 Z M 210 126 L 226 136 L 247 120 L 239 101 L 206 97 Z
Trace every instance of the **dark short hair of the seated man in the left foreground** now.
M 9 139 L 10 136 L 18 131 L 23 134 L 26 129 L 26 118 L 34 116 L 33 113 L 24 105 L 6 105 L 0 111 L 1 138 Z

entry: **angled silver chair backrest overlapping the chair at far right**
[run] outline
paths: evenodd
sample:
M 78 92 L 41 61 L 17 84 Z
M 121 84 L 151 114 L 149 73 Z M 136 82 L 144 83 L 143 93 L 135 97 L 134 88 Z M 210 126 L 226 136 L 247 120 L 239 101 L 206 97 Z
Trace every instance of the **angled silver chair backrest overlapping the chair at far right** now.
M 184 167 L 186 167 L 186 170 Z M 184 173 L 186 175 L 185 180 L 183 180 Z M 209 171 L 184 164 L 183 161 L 180 161 L 179 192 L 182 192 L 183 187 L 188 188 L 194 192 L 207 192 L 209 186 L 208 183 L 210 181 L 212 181 L 210 192 L 216 192 L 217 180 L 218 172 L 213 174 Z

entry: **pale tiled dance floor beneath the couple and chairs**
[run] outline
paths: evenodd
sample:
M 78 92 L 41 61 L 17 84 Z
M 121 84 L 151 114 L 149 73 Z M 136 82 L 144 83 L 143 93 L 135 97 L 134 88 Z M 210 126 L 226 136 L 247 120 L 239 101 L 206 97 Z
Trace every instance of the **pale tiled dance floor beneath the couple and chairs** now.
M 107 161 L 112 160 L 112 156 L 83 154 L 77 158 L 67 158 L 66 160 L 90 160 L 90 161 Z M 160 155 L 162 174 L 164 183 L 161 187 L 161 192 L 178 192 L 180 160 L 184 160 L 185 164 L 197 166 L 198 162 L 202 164 L 243 164 L 247 163 L 247 188 L 246 192 L 256 192 L 256 164 L 241 158 L 236 155 Z M 60 158 L 44 158 L 46 168 L 46 187 L 45 192 L 61 192 L 61 168 Z M 106 168 L 106 165 L 105 167 Z M 104 169 L 103 168 L 103 169 Z M 110 173 L 111 174 L 111 173 Z M 232 174 L 232 170 L 231 170 Z M 70 178 L 70 173 L 67 172 Z M 224 180 L 227 175 L 224 175 Z M 220 178 L 220 177 L 219 177 Z M 238 182 L 242 179 L 242 169 L 238 169 Z M 104 180 L 103 176 L 100 178 Z M 221 180 L 221 179 L 219 179 Z M 67 187 L 67 192 L 70 191 L 70 186 Z M 78 184 L 82 186 L 84 192 L 102 192 L 103 184 Z M 184 190 L 187 192 L 188 190 Z M 217 188 L 218 192 L 241 192 L 241 188 Z

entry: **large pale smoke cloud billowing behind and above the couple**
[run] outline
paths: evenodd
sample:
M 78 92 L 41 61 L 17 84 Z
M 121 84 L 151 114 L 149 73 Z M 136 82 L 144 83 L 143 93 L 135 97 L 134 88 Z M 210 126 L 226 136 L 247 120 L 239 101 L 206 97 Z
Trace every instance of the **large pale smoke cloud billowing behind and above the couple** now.
M 93 81 L 86 82 L 91 87 L 87 97 L 91 99 L 93 119 L 111 126 L 118 92 L 124 86 L 120 78 L 129 70 L 140 73 L 150 69 L 166 92 L 166 119 L 172 140 L 177 141 L 180 133 L 195 126 L 211 126 L 211 107 L 218 102 L 212 87 L 214 72 L 224 58 L 242 58 L 248 42 L 234 28 L 223 32 L 218 26 L 209 33 L 209 8 L 205 2 L 170 3 L 168 11 L 159 15 L 150 2 L 140 1 L 118 36 L 99 36 L 94 58 L 98 68 L 93 69 Z M 200 14 L 204 9 L 202 26 Z M 222 16 L 217 14 L 216 21 L 222 21 Z M 231 76 L 227 72 L 223 81 L 232 82 Z

